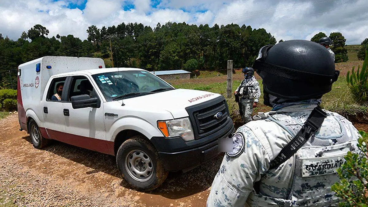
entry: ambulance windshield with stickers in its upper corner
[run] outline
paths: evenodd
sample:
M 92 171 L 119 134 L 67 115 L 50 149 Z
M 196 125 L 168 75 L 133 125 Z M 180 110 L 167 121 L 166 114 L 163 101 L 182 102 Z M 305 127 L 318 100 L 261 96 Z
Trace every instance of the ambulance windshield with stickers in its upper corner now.
M 147 71 L 114 71 L 95 74 L 92 77 L 105 96 L 106 101 L 115 101 L 174 89 Z

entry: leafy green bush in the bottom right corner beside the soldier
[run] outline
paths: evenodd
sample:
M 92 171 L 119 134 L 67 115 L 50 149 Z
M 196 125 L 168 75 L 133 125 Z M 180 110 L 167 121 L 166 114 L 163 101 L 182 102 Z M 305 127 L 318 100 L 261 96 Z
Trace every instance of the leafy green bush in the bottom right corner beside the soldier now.
M 337 170 L 340 182 L 335 183 L 331 190 L 336 193 L 341 202 L 339 206 L 368 206 L 368 134 L 361 131 L 358 140 L 358 148 L 362 154 L 353 154 L 350 151 L 345 156 L 346 162 Z

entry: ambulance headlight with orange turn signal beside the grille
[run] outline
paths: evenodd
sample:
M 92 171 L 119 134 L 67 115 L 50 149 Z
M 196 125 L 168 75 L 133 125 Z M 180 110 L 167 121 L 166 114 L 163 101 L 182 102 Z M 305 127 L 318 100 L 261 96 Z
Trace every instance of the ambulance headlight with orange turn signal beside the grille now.
M 194 140 L 192 125 L 189 118 L 158 121 L 157 126 L 165 137 L 180 136 L 184 141 Z

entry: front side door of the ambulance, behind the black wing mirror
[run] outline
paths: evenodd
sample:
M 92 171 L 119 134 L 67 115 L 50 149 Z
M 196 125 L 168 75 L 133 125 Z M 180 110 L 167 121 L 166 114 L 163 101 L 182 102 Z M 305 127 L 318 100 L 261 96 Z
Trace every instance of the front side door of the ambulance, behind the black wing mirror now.
M 101 101 L 100 108 L 86 107 L 73 109 L 71 97 L 83 94 L 88 94 L 91 97 L 98 97 Z M 74 134 L 75 139 L 84 140 L 85 143 L 82 144 L 93 144 L 96 142 L 100 143 L 99 140 L 106 140 L 106 131 L 103 116 L 103 101 L 101 97 L 99 97 L 99 95 L 96 93 L 94 86 L 91 84 L 91 80 L 89 80 L 87 76 L 71 77 L 71 84 L 70 88 L 68 89 L 67 101 L 64 102 L 63 106 L 63 109 L 69 112 L 68 116 L 64 116 L 67 133 Z M 88 138 L 95 138 L 97 140 Z M 83 147 L 90 148 L 90 146 Z

